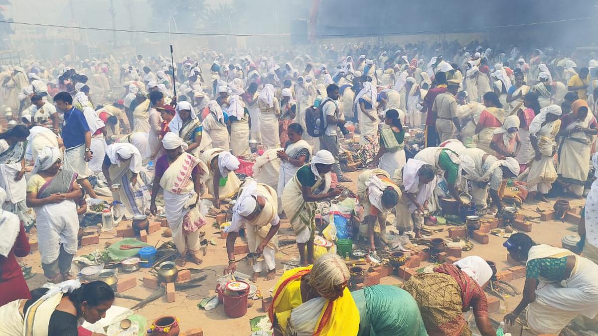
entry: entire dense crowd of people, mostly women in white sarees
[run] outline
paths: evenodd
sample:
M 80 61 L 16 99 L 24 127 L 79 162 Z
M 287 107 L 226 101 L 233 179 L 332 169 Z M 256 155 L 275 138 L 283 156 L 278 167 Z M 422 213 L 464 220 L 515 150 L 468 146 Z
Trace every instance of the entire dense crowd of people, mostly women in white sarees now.
M 301 267 L 274 288 L 277 334 L 465 335 L 463 311 L 473 307 L 481 334 L 495 335 L 484 259 L 440 265 L 402 289 L 349 292 L 343 260 L 315 257 L 317 204 L 341 196 L 338 183 L 352 182 L 347 157 L 358 157 L 357 234 L 375 252 L 390 213 L 399 233 L 419 238 L 444 197 L 463 205 L 471 194 L 478 213 L 500 216 L 507 180 L 524 182 L 527 201 L 556 189 L 584 197 L 590 168 L 598 171 L 598 59 L 477 42 L 313 49 L 200 50 L 175 64 L 139 54 L 2 66 L 0 313 L 21 318 L 0 330 L 25 323 L 36 335 L 42 309 L 50 328 L 76 328 L 78 317 L 91 322 L 111 306 L 109 288 L 71 280 L 86 200 L 107 186 L 125 218 L 166 216 L 179 266 L 202 263 L 202 198 L 209 194 L 218 209 L 234 198 L 225 273 L 236 271 L 234 243 L 244 230 L 260 255 L 252 280 L 276 276 L 277 231 L 288 219 Z M 354 139 L 357 153 L 346 146 Z M 253 176 L 242 181 L 235 172 L 245 162 Z M 583 257 L 526 234 L 505 243 L 527 262 L 523 300 L 507 322 L 527 308 L 534 332 L 554 334 L 579 315 L 596 316 L 594 191 L 580 227 Z M 63 286 L 59 293 L 29 292 L 16 262 L 29 253 L 33 227 L 44 275 Z M 536 290 L 538 282 L 549 285 Z

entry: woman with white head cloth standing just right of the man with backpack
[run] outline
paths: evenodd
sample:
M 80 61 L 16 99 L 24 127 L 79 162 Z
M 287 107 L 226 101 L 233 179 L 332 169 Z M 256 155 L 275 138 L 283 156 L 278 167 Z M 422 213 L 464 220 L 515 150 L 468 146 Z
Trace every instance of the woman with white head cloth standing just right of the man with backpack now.
M 364 145 L 367 142 L 377 142 L 378 124 L 380 123 L 376 112 L 377 98 L 376 86 L 370 82 L 365 82 L 364 88 L 355 96 L 353 109 L 356 109 L 359 113 L 359 132 L 361 132 L 359 145 Z

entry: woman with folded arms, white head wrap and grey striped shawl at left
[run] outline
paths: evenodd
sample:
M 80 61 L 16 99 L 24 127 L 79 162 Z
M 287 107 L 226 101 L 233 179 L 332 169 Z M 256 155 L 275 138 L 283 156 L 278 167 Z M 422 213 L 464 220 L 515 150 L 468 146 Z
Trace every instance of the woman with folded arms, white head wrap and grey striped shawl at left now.
M 81 198 L 81 190 L 75 183 L 77 173 L 60 170 L 61 156 L 59 149 L 44 148 L 27 185 L 27 206 L 35 210 L 42 268 L 53 282 L 70 279 L 79 231 L 75 200 Z

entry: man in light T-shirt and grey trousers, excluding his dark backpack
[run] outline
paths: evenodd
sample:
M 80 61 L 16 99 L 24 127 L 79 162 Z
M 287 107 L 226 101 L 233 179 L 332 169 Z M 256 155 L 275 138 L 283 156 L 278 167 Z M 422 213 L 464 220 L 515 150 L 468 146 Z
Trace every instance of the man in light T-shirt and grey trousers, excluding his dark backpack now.
M 325 149 L 334 156 L 332 172 L 337 175 L 338 182 L 351 182 L 349 178 L 343 176 L 338 162 L 338 130 L 337 127 L 344 126 L 344 119 L 340 119 L 337 100 L 340 97 L 338 85 L 330 84 L 326 88 L 328 98 L 322 101 L 322 114 L 324 116 L 324 134 L 320 138 L 320 149 Z

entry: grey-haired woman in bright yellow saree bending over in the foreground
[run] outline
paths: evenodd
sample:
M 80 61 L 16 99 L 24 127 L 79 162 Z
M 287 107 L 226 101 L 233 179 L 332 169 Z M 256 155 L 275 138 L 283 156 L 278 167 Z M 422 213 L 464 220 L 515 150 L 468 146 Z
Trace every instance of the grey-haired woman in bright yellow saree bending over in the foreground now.
M 347 288 L 349 270 L 335 254 L 282 274 L 268 310 L 274 335 L 356 335 L 359 311 Z

